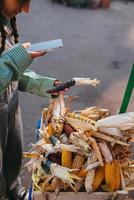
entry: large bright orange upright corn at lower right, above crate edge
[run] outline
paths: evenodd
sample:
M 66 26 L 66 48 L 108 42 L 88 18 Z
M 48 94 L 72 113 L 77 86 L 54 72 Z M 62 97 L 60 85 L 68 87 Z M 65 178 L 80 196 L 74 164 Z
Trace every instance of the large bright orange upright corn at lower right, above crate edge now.
M 113 192 L 120 188 L 120 168 L 119 161 L 113 160 L 111 164 L 105 164 L 105 182 L 106 182 L 106 190 Z

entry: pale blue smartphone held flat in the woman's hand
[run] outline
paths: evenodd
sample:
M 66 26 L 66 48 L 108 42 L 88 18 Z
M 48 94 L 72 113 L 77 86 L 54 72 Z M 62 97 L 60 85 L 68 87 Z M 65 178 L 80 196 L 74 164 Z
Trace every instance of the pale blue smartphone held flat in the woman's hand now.
M 28 51 L 53 51 L 56 48 L 63 47 L 63 42 L 61 39 L 56 40 L 50 40 L 46 42 L 39 42 L 35 44 L 31 44 L 29 48 L 27 48 Z

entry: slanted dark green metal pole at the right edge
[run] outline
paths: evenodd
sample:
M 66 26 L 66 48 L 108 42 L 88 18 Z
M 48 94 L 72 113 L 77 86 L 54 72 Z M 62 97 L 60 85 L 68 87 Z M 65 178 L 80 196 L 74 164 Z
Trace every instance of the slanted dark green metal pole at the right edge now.
M 132 95 L 133 88 L 134 88 L 134 64 L 131 69 L 130 77 L 128 80 L 127 88 L 124 94 L 124 98 L 123 98 L 119 113 L 126 112 L 131 95 Z

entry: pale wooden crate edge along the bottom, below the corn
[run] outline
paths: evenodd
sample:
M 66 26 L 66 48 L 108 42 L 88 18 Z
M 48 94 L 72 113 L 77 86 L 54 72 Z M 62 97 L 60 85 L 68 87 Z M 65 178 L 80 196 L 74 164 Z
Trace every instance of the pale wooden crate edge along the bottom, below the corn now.
M 115 198 L 114 198 L 115 197 Z M 53 200 L 54 193 L 52 192 L 34 192 L 33 200 Z M 87 194 L 86 192 L 60 192 L 57 200 L 125 200 L 126 195 L 108 193 L 108 192 L 94 192 Z

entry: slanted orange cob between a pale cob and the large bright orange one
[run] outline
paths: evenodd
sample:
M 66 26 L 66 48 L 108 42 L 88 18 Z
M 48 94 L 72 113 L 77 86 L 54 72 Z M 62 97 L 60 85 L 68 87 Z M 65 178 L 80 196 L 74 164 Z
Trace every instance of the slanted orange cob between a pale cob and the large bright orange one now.
M 95 171 L 95 177 L 93 181 L 93 191 L 96 191 L 101 185 L 105 177 L 104 167 L 99 166 Z

